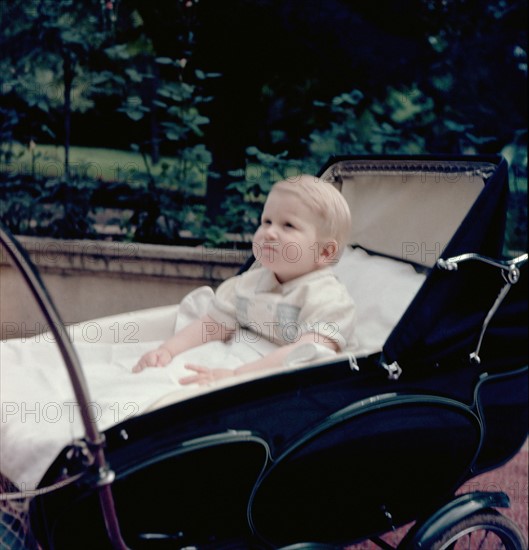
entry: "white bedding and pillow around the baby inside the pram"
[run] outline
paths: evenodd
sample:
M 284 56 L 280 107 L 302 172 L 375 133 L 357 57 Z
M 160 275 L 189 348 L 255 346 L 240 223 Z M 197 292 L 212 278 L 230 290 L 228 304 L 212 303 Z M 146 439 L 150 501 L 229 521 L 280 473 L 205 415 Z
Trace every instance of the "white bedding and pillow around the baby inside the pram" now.
M 407 264 L 371 257 L 360 249 L 348 250 L 335 269 L 356 301 L 357 356 L 379 351 L 424 276 Z M 168 367 L 131 372 L 144 352 L 202 316 L 212 297 L 213 291 L 202 287 L 179 305 L 88 321 L 69 329 L 100 430 L 209 391 L 178 383 L 188 374 L 185 363 L 236 368 L 274 349 L 265 339 L 256 341 L 241 332 L 237 341 L 206 343 L 175 358 Z M 332 352 L 314 348 L 307 353 L 307 359 L 321 360 Z M 303 364 L 298 353 L 287 367 Z M 0 471 L 21 490 L 32 490 L 57 454 L 84 433 L 68 373 L 51 334 L 1 343 L 0 405 Z

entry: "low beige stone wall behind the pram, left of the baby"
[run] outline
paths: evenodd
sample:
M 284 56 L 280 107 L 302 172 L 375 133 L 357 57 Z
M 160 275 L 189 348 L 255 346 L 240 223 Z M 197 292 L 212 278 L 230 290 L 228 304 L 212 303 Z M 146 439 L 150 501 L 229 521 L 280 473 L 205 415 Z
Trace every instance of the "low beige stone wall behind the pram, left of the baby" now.
M 19 237 L 66 324 L 176 304 L 218 286 L 249 251 Z M 7 254 L 0 256 L 1 337 L 28 336 L 45 321 Z

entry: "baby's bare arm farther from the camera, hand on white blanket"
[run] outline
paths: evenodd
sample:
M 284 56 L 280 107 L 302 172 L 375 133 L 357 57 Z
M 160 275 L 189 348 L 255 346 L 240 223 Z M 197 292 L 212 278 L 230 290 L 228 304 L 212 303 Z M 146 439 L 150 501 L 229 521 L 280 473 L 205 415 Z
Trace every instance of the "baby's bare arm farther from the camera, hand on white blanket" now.
M 173 357 L 212 340 L 228 340 L 231 333 L 223 325 L 205 315 L 193 321 L 166 340 L 159 348 L 145 353 L 136 363 L 133 372 L 145 367 L 164 367 Z

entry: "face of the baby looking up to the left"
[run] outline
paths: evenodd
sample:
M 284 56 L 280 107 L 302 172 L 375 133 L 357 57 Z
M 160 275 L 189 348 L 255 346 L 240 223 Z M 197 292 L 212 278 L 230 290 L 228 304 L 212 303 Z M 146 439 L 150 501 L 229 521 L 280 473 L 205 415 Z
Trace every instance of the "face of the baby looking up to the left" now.
M 314 214 L 290 193 L 272 191 L 253 238 L 253 253 L 281 283 L 318 269 L 321 250 Z

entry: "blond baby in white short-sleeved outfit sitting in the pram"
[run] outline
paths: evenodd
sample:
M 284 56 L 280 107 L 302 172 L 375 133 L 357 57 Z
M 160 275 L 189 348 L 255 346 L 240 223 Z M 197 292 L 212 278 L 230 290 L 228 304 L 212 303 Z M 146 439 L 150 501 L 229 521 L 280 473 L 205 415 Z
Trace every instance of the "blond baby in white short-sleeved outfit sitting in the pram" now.
M 163 367 L 206 341 L 228 341 L 238 326 L 279 347 L 236 369 L 187 364 L 192 374 L 180 383 L 208 384 L 280 367 L 293 349 L 308 342 L 334 351 L 352 348 L 355 306 L 331 269 L 346 246 L 350 226 L 347 202 L 330 183 L 302 175 L 274 184 L 253 237 L 257 262 L 222 283 L 207 315 L 143 355 L 134 372 Z

